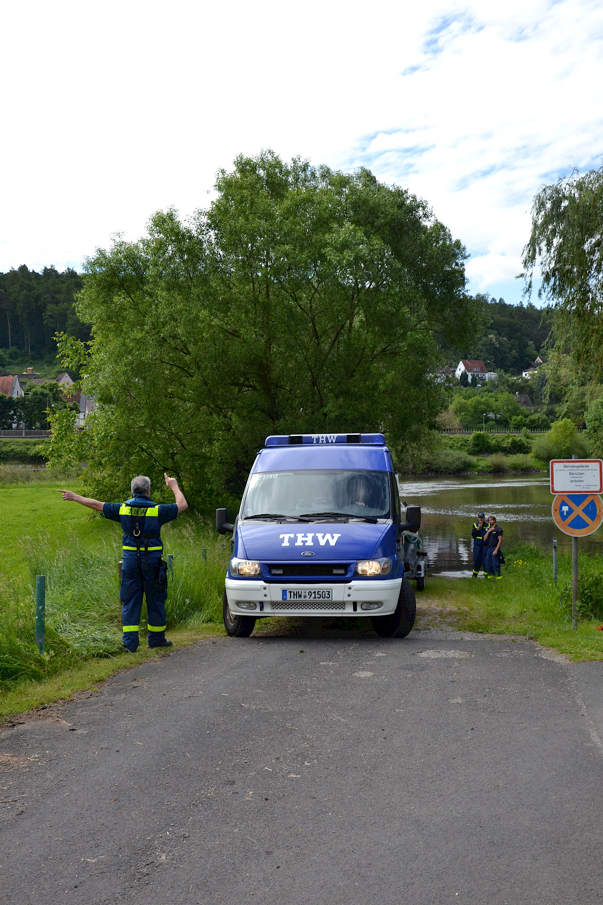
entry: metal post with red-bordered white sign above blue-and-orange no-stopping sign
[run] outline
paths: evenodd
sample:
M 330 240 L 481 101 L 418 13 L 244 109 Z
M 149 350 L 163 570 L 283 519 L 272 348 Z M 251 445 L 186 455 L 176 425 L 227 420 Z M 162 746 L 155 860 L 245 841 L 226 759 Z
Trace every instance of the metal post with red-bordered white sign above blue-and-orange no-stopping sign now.
M 603 460 L 551 459 L 552 518 L 571 537 L 571 627 L 578 627 L 578 538 L 596 531 L 603 522 Z M 553 543 L 553 576 L 557 574 L 557 544 Z

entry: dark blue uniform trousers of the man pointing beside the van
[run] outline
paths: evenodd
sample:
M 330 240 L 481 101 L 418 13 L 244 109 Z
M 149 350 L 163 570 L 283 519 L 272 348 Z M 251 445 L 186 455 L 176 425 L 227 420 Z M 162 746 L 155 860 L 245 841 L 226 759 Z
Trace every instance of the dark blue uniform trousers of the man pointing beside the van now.
M 140 568 L 138 568 L 136 551 L 124 550 L 119 599 L 121 601 L 123 643 L 128 651 L 134 652 L 138 646 L 143 592 L 146 595 L 148 646 L 155 647 L 165 639 L 165 598 L 158 597 L 153 587 L 155 566 L 160 558 L 161 551 L 149 553 L 146 557 L 143 548 L 140 553 Z

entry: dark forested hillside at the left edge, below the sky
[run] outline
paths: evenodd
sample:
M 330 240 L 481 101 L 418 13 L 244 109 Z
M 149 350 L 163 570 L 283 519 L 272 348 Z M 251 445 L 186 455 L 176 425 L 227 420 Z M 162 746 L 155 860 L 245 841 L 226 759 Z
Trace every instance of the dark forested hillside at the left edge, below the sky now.
M 59 272 L 44 267 L 38 273 L 22 264 L 17 270 L 0 273 L 0 348 L 40 356 L 54 353 L 52 338 L 58 331 L 89 338 L 90 329 L 81 323 L 74 307 L 81 285 L 80 274 L 71 268 Z

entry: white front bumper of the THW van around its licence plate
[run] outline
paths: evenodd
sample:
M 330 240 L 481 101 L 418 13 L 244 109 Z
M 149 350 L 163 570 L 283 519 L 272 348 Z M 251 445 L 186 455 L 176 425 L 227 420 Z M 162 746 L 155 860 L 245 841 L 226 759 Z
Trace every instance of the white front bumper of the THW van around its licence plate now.
M 333 584 L 328 582 L 316 582 L 310 584 L 290 582 L 263 582 L 250 581 L 239 578 L 226 579 L 226 597 L 228 608 L 232 614 L 245 614 L 248 616 L 367 616 L 388 615 L 394 612 L 400 596 L 401 578 L 391 578 L 381 581 L 350 581 L 346 584 Z M 333 599 L 327 601 L 284 601 L 283 591 L 306 590 L 324 591 L 326 588 L 333 592 Z M 246 609 L 238 605 L 240 601 L 253 602 L 254 610 Z M 378 609 L 363 610 L 363 603 L 381 603 Z M 354 609 L 354 604 L 355 609 Z

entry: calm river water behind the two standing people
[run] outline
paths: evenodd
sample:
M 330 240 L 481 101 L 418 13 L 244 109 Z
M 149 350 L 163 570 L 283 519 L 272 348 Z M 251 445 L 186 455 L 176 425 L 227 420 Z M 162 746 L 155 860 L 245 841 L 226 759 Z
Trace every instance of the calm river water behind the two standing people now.
M 495 515 L 504 531 L 503 550 L 517 541 L 552 553 L 570 553 L 571 538 L 553 524 L 549 476 L 413 478 L 400 480 L 400 497 L 421 508 L 420 536 L 433 575 L 471 575 L 471 529 L 478 512 Z M 579 539 L 580 552 L 603 553 L 603 530 Z

